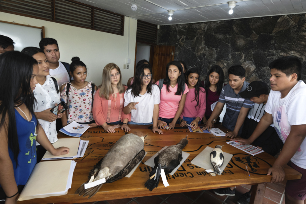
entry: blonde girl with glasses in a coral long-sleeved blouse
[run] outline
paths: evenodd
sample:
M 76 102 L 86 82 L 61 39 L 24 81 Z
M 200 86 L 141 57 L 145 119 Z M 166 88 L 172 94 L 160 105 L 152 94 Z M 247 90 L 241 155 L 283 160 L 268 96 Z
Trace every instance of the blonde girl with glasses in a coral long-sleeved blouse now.
M 108 63 L 102 74 L 102 84 L 95 95 L 92 108 L 97 125 L 107 132 L 115 132 L 111 125 L 122 124 L 121 130 L 130 131 L 128 122 L 131 114 L 124 114 L 124 92 L 127 86 L 122 84 L 120 68 L 114 63 Z

